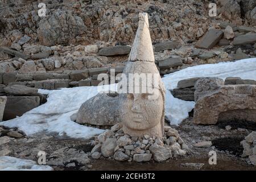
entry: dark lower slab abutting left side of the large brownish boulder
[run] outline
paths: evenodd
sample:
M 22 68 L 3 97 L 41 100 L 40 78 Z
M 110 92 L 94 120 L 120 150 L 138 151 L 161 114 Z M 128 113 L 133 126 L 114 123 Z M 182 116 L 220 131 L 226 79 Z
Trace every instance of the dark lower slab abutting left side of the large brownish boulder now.
M 184 101 L 195 101 L 195 88 L 174 89 L 171 93 L 175 98 Z

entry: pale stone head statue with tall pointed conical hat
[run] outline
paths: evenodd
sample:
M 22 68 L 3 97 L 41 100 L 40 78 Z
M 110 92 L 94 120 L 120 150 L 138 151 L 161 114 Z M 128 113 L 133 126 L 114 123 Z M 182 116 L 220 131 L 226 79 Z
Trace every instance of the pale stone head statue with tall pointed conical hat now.
M 139 26 L 123 71 L 127 92 L 119 93 L 123 131 L 131 136 L 163 137 L 165 89 L 155 65 L 146 13 Z

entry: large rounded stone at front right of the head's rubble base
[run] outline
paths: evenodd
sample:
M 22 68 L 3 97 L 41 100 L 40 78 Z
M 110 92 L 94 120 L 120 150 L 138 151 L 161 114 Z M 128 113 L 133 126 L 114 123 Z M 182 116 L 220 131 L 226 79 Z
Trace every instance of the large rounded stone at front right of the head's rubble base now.
M 171 150 L 168 150 L 166 147 L 160 146 L 156 143 L 152 144 L 149 150 L 153 154 L 153 159 L 156 162 L 163 162 L 164 160 L 170 159 L 172 157 Z

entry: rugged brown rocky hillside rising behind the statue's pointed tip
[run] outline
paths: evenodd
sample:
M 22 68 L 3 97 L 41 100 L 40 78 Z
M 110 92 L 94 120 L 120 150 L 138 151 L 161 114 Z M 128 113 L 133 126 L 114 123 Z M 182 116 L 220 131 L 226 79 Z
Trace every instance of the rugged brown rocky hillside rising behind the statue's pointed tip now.
M 131 44 L 137 30 L 138 13 L 149 15 L 153 43 L 163 40 L 194 42 L 209 27 L 228 19 L 236 25 L 255 26 L 254 0 L 45 0 L 46 17 L 39 17 L 42 1 L 1 0 L 1 46 L 11 46 L 13 30 L 31 37 L 31 43 L 56 44 Z M 210 18 L 209 3 L 217 3 L 217 16 Z

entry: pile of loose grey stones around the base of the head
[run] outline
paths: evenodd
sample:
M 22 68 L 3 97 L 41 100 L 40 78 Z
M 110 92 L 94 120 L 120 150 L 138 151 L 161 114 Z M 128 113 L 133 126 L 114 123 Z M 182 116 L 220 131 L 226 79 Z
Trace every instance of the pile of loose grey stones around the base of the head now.
M 144 135 L 130 137 L 123 133 L 122 123 L 118 123 L 95 138 L 96 145 L 91 151 L 93 159 L 110 158 L 118 161 L 148 162 L 154 159 L 163 162 L 187 154 L 188 146 L 179 137 L 177 130 L 164 127 L 164 137 Z

